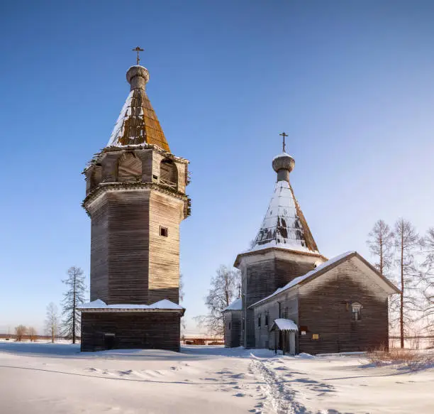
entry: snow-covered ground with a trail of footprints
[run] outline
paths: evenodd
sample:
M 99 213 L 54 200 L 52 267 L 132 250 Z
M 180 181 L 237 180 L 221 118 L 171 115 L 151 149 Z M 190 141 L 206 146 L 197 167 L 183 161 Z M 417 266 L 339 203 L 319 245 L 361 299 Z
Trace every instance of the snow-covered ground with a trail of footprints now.
M 183 347 L 81 354 L 0 342 L 0 413 L 434 413 L 434 368 Z

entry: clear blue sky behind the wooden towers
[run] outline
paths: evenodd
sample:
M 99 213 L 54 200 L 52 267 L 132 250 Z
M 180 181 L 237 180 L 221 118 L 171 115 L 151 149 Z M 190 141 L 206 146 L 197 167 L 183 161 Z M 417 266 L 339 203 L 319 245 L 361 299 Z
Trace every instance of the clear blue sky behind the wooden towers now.
M 64 3 L 0 6 L 0 332 L 42 329 L 69 266 L 89 278 L 80 173 L 109 139 L 136 45 L 172 152 L 191 160 L 190 331 L 215 269 L 255 238 L 282 130 L 325 256 L 369 258 L 379 218 L 434 226 L 433 1 Z

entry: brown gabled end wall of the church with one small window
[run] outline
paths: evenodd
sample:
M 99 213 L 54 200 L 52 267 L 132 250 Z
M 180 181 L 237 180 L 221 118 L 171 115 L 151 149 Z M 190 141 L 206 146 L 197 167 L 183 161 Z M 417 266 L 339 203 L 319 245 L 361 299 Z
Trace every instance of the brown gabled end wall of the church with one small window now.
M 389 344 L 387 295 L 352 258 L 299 289 L 299 352 L 357 352 Z M 351 303 L 362 305 L 352 321 Z M 319 339 L 313 339 L 318 334 Z

